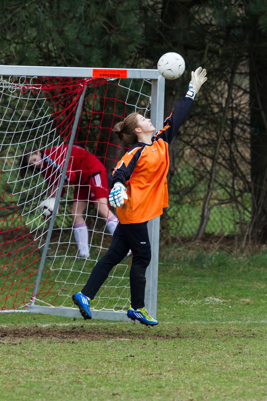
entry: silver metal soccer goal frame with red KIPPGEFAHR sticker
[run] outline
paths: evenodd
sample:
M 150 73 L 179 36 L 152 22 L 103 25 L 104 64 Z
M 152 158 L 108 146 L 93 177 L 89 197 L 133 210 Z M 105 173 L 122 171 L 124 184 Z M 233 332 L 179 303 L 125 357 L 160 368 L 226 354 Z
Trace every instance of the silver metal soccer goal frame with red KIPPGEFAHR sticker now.
M 78 78 L 101 78 L 101 79 L 143 79 L 151 81 L 151 120 L 156 128 L 159 130 L 163 126 L 164 121 L 164 94 L 165 94 L 165 79 L 159 74 L 158 70 L 153 69 L 99 69 L 99 68 L 74 68 L 74 67 L 34 67 L 34 66 L 0 66 L 0 76 L 19 76 L 19 77 L 78 77 Z M 54 211 L 60 203 L 60 192 L 64 185 L 64 177 L 70 158 L 70 149 L 74 143 L 76 136 L 77 126 L 82 110 L 82 104 L 86 88 L 80 93 L 75 118 L 72 123 L 72 129 L 68 140 L 68 152 L 64 166 L 62 167 L 61 178 L 58 185 L 56 194 L 56 201 Z M 0 159 L 1 160 L 1 159 Z M 2 170 L 0 166 L 0 170 Z M 3 196 L 4 199 L 4 196 Z M 32 291 L 31 301 L 26 304 L 26 308 L 3 308 L 0 312 L 29 312 L 29 313 L 42 313 L 66 317 L 80 317 L 79 310 L 74 307 L 67 306 L 48 306 L 38 305 L 36 296 L 40 289 L 42 282 L 42 274 L 46 265 L 46 257 L 49 249 L 49 243 L 56 219 L 56 213 L 53 211 L 50 218 L 48 230 L 46 232 L 46 239 L 42 247 L 42 255 L 40 257 L 40 264 L 36 274 L 36 280 Z M 156 317 L 157 315 L 157 281 L 158 281 L 158 261 L 159 261 L 159 227 L 160 218 L 157 217 L 149 221 L 149 238 L 151 241 L 152 257 L 149 267 L 146 271 L 146 292 L 145 292 L 145 306 L 148 312 Z M 85 284 L 85 283 L 84 283 Z M 45 303 L 45 302 L 44 302 Z M 1 305 L 0 305 L 1 307 Z M 106 320 L 127 320 L 124 311 L 112 310 L 95 310 L 92 308 L 92 318 L 106 319 Z

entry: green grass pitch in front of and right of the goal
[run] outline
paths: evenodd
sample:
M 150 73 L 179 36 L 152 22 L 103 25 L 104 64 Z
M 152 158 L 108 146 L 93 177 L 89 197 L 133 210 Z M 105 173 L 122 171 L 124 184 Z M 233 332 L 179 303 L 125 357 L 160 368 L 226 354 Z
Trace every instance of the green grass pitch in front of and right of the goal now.
M 267 253 L 164 253 L 154 328 L 0 314 L 0 401 L 266 401 Z

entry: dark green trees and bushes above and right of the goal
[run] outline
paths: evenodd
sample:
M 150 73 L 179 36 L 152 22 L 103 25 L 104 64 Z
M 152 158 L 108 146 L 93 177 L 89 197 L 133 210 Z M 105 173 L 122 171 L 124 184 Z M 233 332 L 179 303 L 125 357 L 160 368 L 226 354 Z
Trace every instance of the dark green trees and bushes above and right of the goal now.
M 185 207 L 187 199 L 181 193 L 194 199 L 191 187 L 177 181 L 181 166 L 187 164 L 188 171 L 193 166 L 190 185 L 201 184 L 203 191 L 194 227 L 202 225 L 207 232 L 214 205 L 220 213 L 221 207 L 231 204 L 239 216 L 233 222 L 238 229 L 231 234 L 254 233 L 266 242 L 266 0 L 2 0 L 0 4 L 2 64 L 156 68 L 163 53 L 182 54 L 186 71 L 180 79 L 166 81 L 165 115 L 185 95 L 190 72 L 205 67 L 209 80 L 197 95 L 181 139 L 176 138 L 171 148 L 170 207 Z M 204 205 L 209 189 L 212 196 Z M 218 198 L 218 193 L 224 195 Z M 162 228 L 169 235 L 166 213 Z M 197 228 L 191 231 L 196 235 Z

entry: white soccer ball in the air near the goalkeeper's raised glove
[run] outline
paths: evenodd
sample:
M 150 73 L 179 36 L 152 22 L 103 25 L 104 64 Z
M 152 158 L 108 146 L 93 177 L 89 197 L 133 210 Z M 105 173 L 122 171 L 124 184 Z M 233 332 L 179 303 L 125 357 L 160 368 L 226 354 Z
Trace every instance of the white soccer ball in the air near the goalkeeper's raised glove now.
M 158 70 L 166 79 L 177 79 L 185 71 L 185 60 L 178 53 L 165 53 L 158 61 Z

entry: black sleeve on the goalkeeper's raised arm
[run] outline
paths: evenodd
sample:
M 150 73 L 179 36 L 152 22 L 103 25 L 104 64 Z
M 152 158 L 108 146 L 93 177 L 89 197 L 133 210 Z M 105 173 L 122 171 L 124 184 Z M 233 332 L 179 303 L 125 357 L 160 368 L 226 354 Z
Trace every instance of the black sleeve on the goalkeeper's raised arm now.
M 182 97 L 182 99 L 179 100 L 177 105 L 172 110 L 171 115 L 165 119 L 163 129 L 157 132 L 153 140 L 157 141 L 162 138 L 169 144 L 185 121 L 185 118 L 191 109 L 192 103 L 193 99 L 190 97 Z

